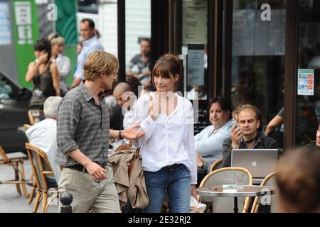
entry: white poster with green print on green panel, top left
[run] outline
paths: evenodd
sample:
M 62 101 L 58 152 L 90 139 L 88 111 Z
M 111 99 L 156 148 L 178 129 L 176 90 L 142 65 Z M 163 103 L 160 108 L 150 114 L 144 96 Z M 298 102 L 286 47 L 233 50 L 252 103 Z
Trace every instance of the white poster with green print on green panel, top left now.
M 16 1 L 16 26 L 18 28 L 18 45 L 32 44 L 32 22 L 30 1 Z

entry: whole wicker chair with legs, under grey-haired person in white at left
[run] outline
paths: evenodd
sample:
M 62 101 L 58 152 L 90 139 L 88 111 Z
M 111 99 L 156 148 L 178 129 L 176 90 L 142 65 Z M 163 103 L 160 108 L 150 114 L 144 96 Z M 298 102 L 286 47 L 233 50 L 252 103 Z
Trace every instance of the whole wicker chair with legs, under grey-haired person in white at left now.
M 38 206 L 42 199 L 42 211 L 46 213 L 47 204 L 48 204 L 48 183 L 46 177 L 48 175 L 53 175 L 53 169 L 48 160 L 48 156 L 40 148 L 37 148 L 35 145 L 26 143 L 26 150 L 28 152 L 28 157 L 31 162 L 31 167 L 34 172 L 34 182 L 36 190 L 36 201 L 33 206 L 33 213 L 38 211 Z

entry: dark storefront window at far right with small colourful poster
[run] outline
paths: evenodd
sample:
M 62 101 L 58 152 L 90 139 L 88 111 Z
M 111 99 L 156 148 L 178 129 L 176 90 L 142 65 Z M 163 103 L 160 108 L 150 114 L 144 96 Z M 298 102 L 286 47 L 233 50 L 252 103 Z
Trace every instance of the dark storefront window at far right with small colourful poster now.
M 316 139 L 320 119 L 320 2 L 299 1 L 296 145 Z

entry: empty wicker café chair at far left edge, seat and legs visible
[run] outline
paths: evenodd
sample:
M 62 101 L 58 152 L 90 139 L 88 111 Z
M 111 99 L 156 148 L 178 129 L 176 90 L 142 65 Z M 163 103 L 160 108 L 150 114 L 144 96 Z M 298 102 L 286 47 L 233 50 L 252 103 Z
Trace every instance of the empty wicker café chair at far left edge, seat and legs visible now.
M 16 184 L 16 190 L 18 194 L 21 194 L 21 188 L 23 190 L 24 196 L 28 198 L 28 191 L 26 189 L 26 180 L 24 177 L 24 167 L 23 167 L 23 160 L 27 160 L 28 156 L 21 153 L 9 153 L 6 154 L 4 149 L 0 146 L 0 165 L 8 165 L 9 167 L 14 168 L 14 175 L 15 179 L 0 181 L 0 184 Z

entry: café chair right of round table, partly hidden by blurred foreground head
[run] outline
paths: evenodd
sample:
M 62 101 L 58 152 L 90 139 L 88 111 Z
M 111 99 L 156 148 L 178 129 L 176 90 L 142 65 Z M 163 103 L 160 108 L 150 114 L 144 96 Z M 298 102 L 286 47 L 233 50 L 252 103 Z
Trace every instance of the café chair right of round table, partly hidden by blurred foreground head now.
M 267 177 L 263 179 L 260 186 L 277 187 L 276 179 L 275 179 L 276 176 L 277 176 L 277 172 L 272 172 L 270 175 L 267 175 Z M 255 201 L 253 201 L 253 204 L 252 204 L 251 213 L 258 213 L 259 206 L 263 206 L 261 203 L 261 199 L 262 199 L 261 196 L 255 197 Z M 270 200 L 267 201 L 267 204 L 265 205 L 270 205 L 271 213 L 276 213 L 277 212 L 277 194 L 270 195 Z

